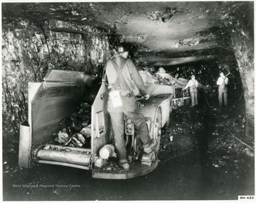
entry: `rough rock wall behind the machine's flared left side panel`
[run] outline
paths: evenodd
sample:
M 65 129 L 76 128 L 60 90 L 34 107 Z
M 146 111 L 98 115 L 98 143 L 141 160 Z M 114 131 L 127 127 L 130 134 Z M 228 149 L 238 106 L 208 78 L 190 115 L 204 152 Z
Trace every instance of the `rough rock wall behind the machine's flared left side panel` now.
M 2 29 L 3 130 L 18 133 L 27 118 L 28 82 L 42 82 L 50 69 L 98 76 L 110 57 L 107 33 L 63 21 L 16 21 Z

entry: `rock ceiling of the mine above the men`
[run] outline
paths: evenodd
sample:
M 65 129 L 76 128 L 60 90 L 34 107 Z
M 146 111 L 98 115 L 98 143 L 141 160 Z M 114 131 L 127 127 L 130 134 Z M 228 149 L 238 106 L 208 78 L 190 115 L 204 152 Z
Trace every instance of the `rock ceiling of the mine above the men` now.
M 202 54 L 207 55 L 204 59 L 211 59 L 216 53 L 222 55 L 220 38 L 224 31 L 220 19 L 234 4 L 231 1 L 6 3 L 2 4 L 2 15 L 4 20 L 54 18 L 115 31 L 124 41 L 139 47 L 139 56 L 156 65 L 173 65 L 180 60 L 198 60 Z

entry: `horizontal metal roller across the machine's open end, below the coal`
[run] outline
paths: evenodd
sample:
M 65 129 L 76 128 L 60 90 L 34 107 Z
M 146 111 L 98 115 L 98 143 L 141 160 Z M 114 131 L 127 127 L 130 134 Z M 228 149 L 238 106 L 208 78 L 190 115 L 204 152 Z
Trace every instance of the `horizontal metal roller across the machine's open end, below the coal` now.
M 90 153 L 81 153 L 78 151 L 55 151 L 38 150 L 37 158 L 40 160 L 52 160 L 61 163 L 73 163 L 76 165 L 90 165 Z

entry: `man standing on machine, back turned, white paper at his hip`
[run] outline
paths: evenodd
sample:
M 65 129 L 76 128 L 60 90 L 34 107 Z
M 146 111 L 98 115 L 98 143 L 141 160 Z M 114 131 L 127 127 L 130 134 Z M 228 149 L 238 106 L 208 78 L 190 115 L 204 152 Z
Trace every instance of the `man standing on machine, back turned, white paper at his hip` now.
M 135 133 L 142 141 L 146 154 L 154 153 L 157 141 L 151 140 L 149 137 L 144 115 L 134 96 L 134 85 L 136 84 L 139 93 L 145 99 L 149 99 L 142 77 L 132 60 L 127 58 L 129 47 L 125 43 L 120 43 L 114 52 L 114 57 L 107 61 L 106 65 L 107 85 L 111 89 L 110 98 L 107 101 L 107 111 L 109 111 L 112 121 L 119 166 L 124 170 L 129 170 L 124 143 L 124 114 L 134 123 Z

